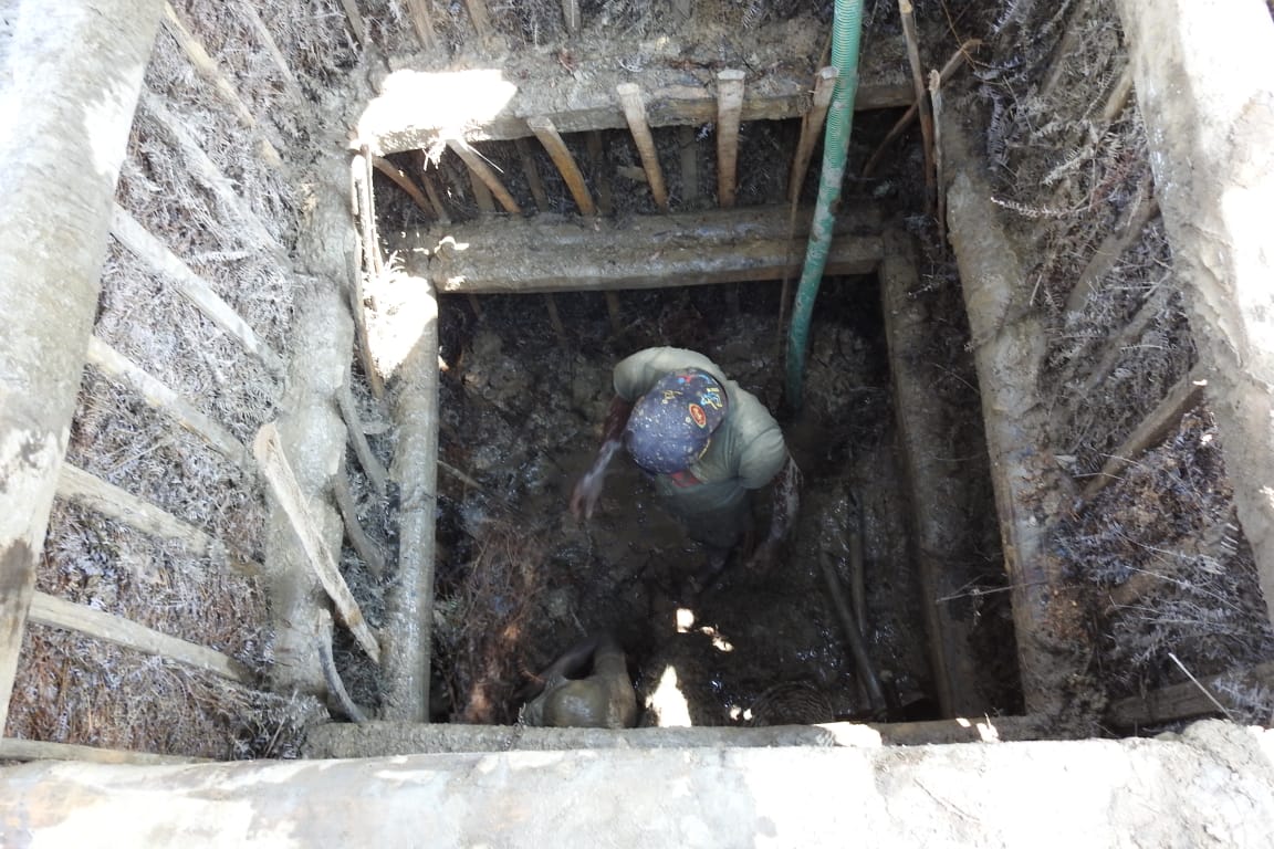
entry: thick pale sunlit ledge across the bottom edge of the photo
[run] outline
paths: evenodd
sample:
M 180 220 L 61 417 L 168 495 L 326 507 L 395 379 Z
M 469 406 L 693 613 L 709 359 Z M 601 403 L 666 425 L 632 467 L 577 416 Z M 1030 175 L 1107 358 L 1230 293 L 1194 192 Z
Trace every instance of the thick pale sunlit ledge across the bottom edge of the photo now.
M 1274 733 L 0 770 L 0 843 L 1268 846 Z

